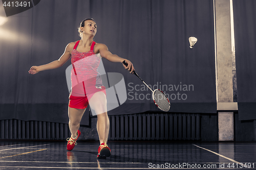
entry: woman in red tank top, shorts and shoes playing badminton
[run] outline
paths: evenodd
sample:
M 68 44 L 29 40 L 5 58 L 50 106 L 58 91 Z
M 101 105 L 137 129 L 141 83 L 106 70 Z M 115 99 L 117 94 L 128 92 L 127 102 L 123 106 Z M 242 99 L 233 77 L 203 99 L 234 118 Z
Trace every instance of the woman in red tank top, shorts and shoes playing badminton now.
M 105 44 L 93 41 L 93 37 L 97 33 L 97 25 L 92 18 L 84 19 L 80 23 L 78 32 L 81 39 L 69 43 L 58 60 L 45 65 L 32 66 L 29 73 L 34 75 L 42 70 L 58 68 L 71 58 L 73 65 L 71 71 L 72 90 L 69 96 L 68 112 L 71 137 L 67 139 L 67 149 L 71 151 L 77 144 L 77 138 L 81 134 L 78 130 L 80 121 L 90 103 L 90 107 L 97 114 L 97 131 L 100 141 L 97 158 L 105 158 L 111 155 L 111 151 L 106 144 L 109 136 L 109 117 L 106 111 L 105 87 L 101 84 L 97 72 L 100 56 L 111 62 L 122 63 L 125 60 L 128 65 L 123 64 L 123 66 L 131 74 L 135 69 L 131 61 L 112 54 Z

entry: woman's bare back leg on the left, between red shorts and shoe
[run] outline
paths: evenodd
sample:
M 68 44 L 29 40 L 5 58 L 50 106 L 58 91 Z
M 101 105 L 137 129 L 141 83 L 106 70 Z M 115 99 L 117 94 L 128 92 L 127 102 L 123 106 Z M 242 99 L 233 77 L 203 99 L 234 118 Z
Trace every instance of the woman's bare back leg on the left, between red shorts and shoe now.
M 77 130 L 80 127 L 84 111 L 86 111 L 86 109 L 75 109 L 69 107 L 69 129 L 73 139 L 77 136 Z

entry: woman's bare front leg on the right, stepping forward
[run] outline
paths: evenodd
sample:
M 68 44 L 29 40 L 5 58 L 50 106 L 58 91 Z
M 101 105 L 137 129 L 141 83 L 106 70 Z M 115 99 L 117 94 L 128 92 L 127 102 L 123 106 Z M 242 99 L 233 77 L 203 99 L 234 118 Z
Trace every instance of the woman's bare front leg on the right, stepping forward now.
M 107 143 L 110 130 L 110 120 L 106 112 L 106 96 L 103 92 L 99 91 L 93 94 L 89 101 L 90 107 L 97 114 L 97 131 L 99 135 L 99 142 Z

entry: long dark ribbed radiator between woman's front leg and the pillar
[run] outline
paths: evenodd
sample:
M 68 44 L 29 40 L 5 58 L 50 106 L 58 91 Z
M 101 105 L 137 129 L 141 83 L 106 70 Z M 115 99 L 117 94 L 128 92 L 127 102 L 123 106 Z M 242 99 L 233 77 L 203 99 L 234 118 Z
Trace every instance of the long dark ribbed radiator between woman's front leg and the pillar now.
M 200 115 L 111 115 L 109 140 L 200 140 Z

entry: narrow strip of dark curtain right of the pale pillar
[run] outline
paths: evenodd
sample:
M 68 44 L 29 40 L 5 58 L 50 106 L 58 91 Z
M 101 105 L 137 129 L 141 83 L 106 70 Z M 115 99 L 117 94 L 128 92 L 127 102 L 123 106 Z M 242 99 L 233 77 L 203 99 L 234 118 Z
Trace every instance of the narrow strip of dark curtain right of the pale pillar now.
M 256 119 L 256 1 L 233 0 L 238 110 L 240 120 Z

